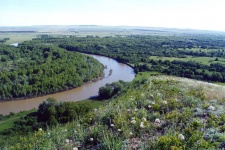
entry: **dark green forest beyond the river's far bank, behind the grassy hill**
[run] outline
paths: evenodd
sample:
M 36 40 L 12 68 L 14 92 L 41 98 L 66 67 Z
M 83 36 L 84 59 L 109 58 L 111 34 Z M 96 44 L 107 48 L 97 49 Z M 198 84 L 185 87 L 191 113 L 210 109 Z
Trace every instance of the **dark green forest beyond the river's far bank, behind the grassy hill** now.
M 50 44 L 68 51 L 108 56 L 132 65 L 136 73 L 157 71 L 167 75 L 210 82 L 225 82 L 225 40 L 223 35 L 118 35 L 114 37 L 70 36 L 59 38 L 43 35 L 33 39 L 31 43 Z M 153 60 L 151 56 L 158 56 L 158 59 Z M 161 57 L 180 58 L 181 61 L 163 61 Z M 203 57 L 209 59 L 207 64 L 195 61 L 196 58 L 201 60 Z M 185 61 L 187 59 L 190 60 Z

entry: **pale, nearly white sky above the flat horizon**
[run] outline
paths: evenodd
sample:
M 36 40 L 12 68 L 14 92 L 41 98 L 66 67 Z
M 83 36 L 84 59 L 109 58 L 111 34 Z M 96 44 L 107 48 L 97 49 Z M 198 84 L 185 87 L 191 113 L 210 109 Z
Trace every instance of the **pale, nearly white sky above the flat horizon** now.
M 107 25 L 225 31 L 225 0 L 0 0 L 0 26 Z

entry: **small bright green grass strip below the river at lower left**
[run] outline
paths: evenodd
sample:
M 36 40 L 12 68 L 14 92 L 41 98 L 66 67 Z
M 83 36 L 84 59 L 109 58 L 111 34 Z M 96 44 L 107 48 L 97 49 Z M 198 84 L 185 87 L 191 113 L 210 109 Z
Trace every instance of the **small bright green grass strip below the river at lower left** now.
M 19 113 L 15 113 L 14 115 L 8 115 L 9 117 L 4 117 L 0 121 L 0 132 L 4 131 L 5 129 L 9 129 L 13 127 L 14 122 L 20 120 L 21 117 L 25 117 L 26 115 L 35 112 L 36 109 L 32 109 L 29 111 L 21 111 Z

